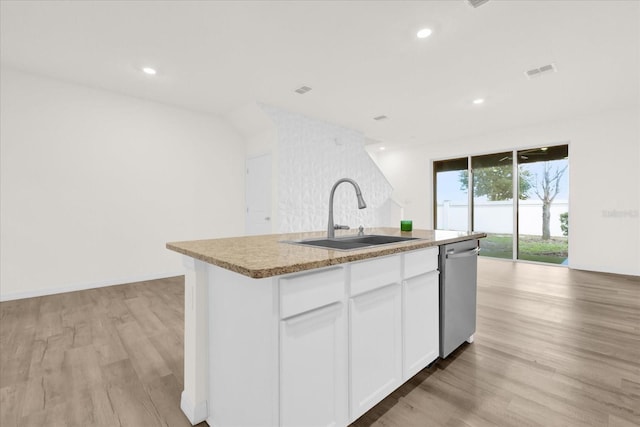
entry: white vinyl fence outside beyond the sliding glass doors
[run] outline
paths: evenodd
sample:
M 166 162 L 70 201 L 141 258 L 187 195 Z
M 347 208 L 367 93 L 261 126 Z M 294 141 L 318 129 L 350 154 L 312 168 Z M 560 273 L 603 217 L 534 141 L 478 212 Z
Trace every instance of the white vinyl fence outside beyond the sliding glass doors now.
M 521 200 L 519 202 L 520 234 L 542 235 L 542 201 Z M 466 202 L 447 201 L 438 204 L 438 224 L 442 230 L 467 230 L 469 205 Z M 554 201 L 551 204 L 551 222 L 549 229 L 552 236 L 562 236 L 560 214 L 569 212 L 567 200 Z M 486 233 L 513 233 L 513 202 L 475 202 L 474 229 Z M 569 218 L 571 220 L 571 218 Z M 571 230 L 571 226 L 569 226 Z

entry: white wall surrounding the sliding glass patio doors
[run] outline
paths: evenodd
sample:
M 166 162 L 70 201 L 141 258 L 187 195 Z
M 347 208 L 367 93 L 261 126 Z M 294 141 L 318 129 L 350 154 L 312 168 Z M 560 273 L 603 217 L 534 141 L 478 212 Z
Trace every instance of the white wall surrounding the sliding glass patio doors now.
M 416 228 L 432 227 L 431 161 L 569 143 L 572 268 L 640 275 L 640 111 L 637 108 L 377 153 Z M 612 214 L 613 213 L 613 214 Z

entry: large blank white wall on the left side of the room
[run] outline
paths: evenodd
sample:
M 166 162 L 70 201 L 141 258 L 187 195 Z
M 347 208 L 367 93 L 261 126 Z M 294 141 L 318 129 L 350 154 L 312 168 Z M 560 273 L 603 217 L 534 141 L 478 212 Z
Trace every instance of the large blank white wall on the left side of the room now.
M 242 234 L 242 138 L 211 115 L 1 70 L 0 299 L 181 274 Z

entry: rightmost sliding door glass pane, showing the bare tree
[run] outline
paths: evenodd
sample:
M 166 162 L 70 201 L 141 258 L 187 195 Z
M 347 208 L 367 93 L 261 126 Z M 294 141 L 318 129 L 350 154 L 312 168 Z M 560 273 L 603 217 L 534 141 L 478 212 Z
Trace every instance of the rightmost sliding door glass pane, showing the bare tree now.
M 567 264 L 568 146 L 518 152 L 518 259 Z

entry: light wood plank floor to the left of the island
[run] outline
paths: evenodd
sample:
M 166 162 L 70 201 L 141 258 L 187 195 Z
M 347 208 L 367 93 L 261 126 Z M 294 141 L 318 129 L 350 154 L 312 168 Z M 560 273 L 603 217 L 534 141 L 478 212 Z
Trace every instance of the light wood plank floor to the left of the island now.
M 0 303 L 0 426 L 190 426 L 183 336 L 183 277 Z

